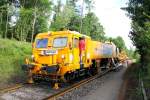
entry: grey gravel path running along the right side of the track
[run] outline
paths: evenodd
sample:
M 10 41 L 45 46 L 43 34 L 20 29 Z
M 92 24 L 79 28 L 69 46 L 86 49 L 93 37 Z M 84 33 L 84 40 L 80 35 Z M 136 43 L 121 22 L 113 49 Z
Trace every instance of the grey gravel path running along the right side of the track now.
M 122 76 L 126 68 L 119 72 L 108 74 L 94 80 L 78 89 L 75 89 L 58 100 L 117 100 L 119 89 L 123 82 Z

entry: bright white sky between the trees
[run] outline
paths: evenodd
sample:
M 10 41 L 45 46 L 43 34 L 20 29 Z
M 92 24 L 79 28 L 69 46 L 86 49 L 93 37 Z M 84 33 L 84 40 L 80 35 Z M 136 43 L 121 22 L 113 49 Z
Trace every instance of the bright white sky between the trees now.
M 131 30 L 131 20 L 127 12 L 121 10 L 126 7 L 127 0 L 95 0 L 94 12 L 105 29 L 106 36 L 121 36 L 127 48 L 132 48 L 132 41 L 128 37 Z

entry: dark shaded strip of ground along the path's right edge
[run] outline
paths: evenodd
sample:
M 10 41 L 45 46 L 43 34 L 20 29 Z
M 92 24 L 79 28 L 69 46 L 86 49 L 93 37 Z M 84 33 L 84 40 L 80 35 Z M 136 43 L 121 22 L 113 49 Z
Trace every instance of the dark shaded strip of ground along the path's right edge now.
M 127 82 L 124 100 L 143 100 L 139 83 L 139 67 L 138 63 L 133 63 L 124 74 L 124 80 Z

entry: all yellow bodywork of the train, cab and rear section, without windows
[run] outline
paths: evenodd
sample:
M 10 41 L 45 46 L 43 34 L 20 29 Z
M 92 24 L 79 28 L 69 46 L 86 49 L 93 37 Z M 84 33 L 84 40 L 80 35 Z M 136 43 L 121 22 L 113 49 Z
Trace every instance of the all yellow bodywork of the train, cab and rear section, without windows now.
M 92 65 L 92 60 L 97 60 L 101 58 L 107 58 L 101 53 L 102 49 L 102 42 L 92 41 L 89 36 L 82 35 L 75 31 L 57 31 L 57 32 L 46 32 L 46 33 L 39 33 L 36 38 L 35 42 L 33 43 L 32 49 L 32 56 L 33 64 L 35 67 L 32 69 L 33 74 L 45 74 L 48 75 L 47 72 L 42 72 L 41 68 L 46 65 L 51 67 L 53 65 L 59 65 L 59 70 L 57 73 L 60 76 L 64 76 L 67 72 L 73 72 L 77 69 L 80 69 L 80 57 L 79 57 L 79 47 L 75 47 L 74 39 L 79 40 L 79 37 L 85 37 L 86 49 L 83 51 L 82 54 L 82 61 L 84 64 L 84 68 L 88 68 Z M 53 40 L 58 37 L 67 37 L 67 45 L 62 48 L 54 48 L 53 47 Z M 36 48 L 36 41 L 37 39 L 48 39 L 48 44 L 46 48 Z M 77 42 L 77 41 L 76 41 Z M 41 55 L 41 52 L 44 50 L 57 50 L 57 54 L 53 55 Z M 113 56 L 115 50 L 113 51 Z

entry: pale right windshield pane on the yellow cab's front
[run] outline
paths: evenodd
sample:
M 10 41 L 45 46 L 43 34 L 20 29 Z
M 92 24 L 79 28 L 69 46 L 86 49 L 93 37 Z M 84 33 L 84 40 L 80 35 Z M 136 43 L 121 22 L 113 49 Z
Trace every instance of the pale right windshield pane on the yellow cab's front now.
M 61 48 L 67 45 L 67 37 L 55 38 L 53 42 L 53 47 Z

